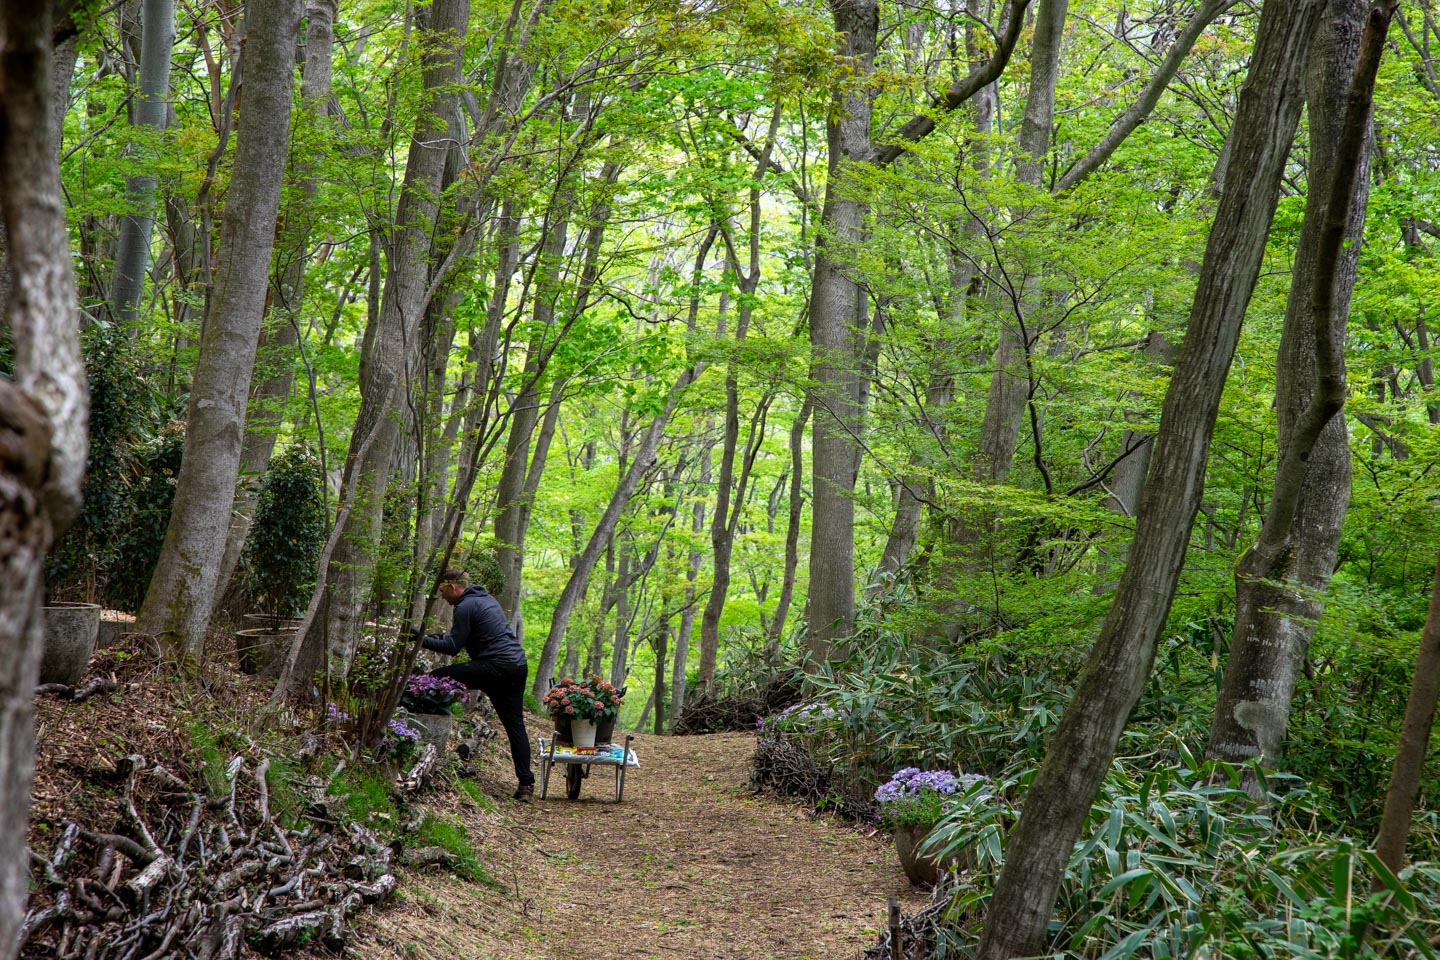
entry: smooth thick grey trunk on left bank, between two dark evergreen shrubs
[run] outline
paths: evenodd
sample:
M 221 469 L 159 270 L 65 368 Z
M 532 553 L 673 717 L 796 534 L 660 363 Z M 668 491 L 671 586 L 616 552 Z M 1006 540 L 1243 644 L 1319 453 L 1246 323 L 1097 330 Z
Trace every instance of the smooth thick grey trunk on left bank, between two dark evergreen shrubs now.
M 215 606 L 225 531 L 240 468 L 245 402 L 265 315 L 275 217 L 289 144 L 298 0 L 252 4 L 246 29 L 245 109 L 220 227 L 210 317 L 190 386 L 184 459 L 164 548 L 137 629 L 194 669 Z

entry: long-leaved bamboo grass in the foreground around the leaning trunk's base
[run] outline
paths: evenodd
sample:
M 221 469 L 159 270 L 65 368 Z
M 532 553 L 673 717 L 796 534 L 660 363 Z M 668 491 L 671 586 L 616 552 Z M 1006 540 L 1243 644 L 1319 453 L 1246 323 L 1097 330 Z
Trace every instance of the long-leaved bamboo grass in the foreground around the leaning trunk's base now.
M 1159 767 L 1119 761 L 1071 852 L 1045 953 L 1066 957 L 1433 956 L 1440 871 L 1416 865 L 1400 879 L 1346 838 L 1312 832 L 1315 797 L 1272 777 L 1267 803 L 1240 787 L 1237 769 L 1184 760 Z M 940 855 L 969 851 L 965 885 L 946 889 L 933 928 L 935 957 L 969 957 L 1004 862 L 1008 807 L 998 790 L 969 794 L 932 833 Z M 1218 783 L 1215 780 L 1218 779 Z M 1371 894 L 1372 884 L 1384 895 Z

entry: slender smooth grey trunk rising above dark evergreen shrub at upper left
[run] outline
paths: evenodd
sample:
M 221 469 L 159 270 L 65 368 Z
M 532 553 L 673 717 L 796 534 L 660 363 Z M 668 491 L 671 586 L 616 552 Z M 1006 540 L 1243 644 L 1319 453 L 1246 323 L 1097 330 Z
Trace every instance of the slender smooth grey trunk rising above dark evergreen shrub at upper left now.
M 135 101 L 134 119 L 137 128 L 148 128 L 158 137 L 166 130 L 168 114 L 166 98 L 170 95 L 170 52 L 176 40 L 174 0 L 145 0 L 141 24 L 140 96 Z M 125 178 L 130 213 L 120 222 L 115 279 L 109 288 L 111 317 L 122 327 L 135 322 L 145 291 L 157 183 L 151 174 Z

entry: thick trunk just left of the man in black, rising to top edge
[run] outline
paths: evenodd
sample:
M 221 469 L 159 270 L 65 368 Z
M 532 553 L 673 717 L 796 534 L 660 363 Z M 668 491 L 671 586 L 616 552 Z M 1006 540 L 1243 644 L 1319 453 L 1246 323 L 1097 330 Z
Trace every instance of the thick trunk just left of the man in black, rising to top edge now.
M 318 604 L 311 603 L 323 612 L 323 620 L 307 616 L 281 675 L 282 688 L 292 697 L 302 695 L 304 685 L 321 666 L 330 685 L 348 672 L 361 607 L 374 571 L 384 488 L 395 469 L 406 360 L 415 356 L 432 281 L 428 266 L 431 242 L 449 153 L 445 134 L 456 109 L 455 89 L 462 81 L 459 47 L 469 22 L 469 0 L 436 0 L 429 7 L 418 7 L 416 22 L 425 49 L 425 99 L 416 115 L 396 207 L 396 227 L 386 250 L 380 311 L 376 322 L 367 327 L 361 348 L 360 412 L 350 438 L 344 474 L 347 489 L 343 492 L 353 507 L 346 512 L 330 560 L 320 571 L 323 597 Z M 475 396 L 484 396 L 484 391 Z

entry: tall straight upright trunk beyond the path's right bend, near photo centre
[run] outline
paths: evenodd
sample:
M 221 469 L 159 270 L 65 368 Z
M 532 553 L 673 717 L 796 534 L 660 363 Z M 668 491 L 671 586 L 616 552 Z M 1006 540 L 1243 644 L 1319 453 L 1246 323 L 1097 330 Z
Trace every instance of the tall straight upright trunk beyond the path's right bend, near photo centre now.
M 831 0 L 837 56 L 845 79 L 831 101 L 827 121 L 829 174 L 821 210 L 822 235 L 815 245 L 811 286 L 811 377 L 815 430 L 811 440 L 811 561 L 806 659 L 816 666 L 850 636 L 855 619 L 855 504 L 851 492 L 860 472 L 858 430 L 861 335 L 868 298 L 851 275 L 848 249 L 863 239 L 865 204 L 847 187 L 850 171 L 868 163 L 870 112 L 874 88 L 877 0 Z

